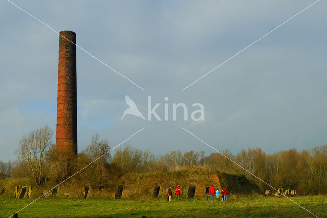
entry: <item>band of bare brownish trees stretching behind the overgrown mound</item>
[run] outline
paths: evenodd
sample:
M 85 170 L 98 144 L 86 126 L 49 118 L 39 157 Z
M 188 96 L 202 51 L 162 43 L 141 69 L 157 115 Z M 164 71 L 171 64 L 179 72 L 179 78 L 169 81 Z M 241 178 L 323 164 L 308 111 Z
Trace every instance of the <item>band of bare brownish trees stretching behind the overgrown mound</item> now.
M 94 135 L 89 146 L 68 161 L 56 158 L 52 138 L 53 130 L 47 126 L 24 135 L 16 151 L 17 159 L 0 161 L 0 178 L 27 177 L 41 186 L 48 180 L 63 181 L 89 165 L 74 179 L 100 190 L 114 186 L 115 181 L 127 173 L 218 170 L 229 174 L 245 174 L 262 191 L 271 189 L 217 152 L 208 156 L 204 155 L 204 151 L 192 150 L 155 155 L 151 150 L 141 150 L 128 144 L 109 152 L 109 142 Z M 296 189 L 303 195 L 327 193 L 327 145 L 303 151 L 293 148 L 272 154 L 265 153 L 261 148 L 243 149 L 236 155 L 228 149 L 221 153 L 275 188 Z

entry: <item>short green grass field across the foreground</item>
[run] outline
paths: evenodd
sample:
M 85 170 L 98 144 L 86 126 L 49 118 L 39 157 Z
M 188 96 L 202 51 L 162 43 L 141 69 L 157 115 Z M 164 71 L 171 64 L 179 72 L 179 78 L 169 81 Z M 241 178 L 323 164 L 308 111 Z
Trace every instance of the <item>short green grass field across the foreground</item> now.
M 327 217 L 327 197 L 293 197 L 318 217 Z M 0 217 L 9 217 L 33 199 L 0 199 Z M 204 200 L 113 200 L 43 198 L 18 217 L 314 217 L 286 198 L 239 197 Z

